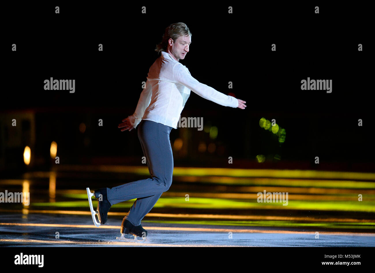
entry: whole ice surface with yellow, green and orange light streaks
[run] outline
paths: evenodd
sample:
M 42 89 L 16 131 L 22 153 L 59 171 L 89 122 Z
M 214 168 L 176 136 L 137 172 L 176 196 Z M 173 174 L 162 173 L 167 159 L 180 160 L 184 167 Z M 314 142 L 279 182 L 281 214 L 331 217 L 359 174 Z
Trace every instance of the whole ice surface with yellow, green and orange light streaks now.
M 0 246 L 375 246 L 373 173 L 347 173 L 357 180 L 345 181 L 339 179 L 342 172 L 182 167 L 174 172 L 171 189 L 142 219 L 144 242 L 116 240 L 135 200 L 113 205 L 108 222 L 97 228 L 86 187 L 136 181 L 147 177 L 147 167 L 61 166 L 0 179 L 7 192 L 30 192 L 23 204 L 1 204 Z M 324 179 L 327 175 L 332 178 Z M 288 192 L 288 205 L 257 202 L 263 190 Z M 358 192 L 365 197 L 361 202 Z

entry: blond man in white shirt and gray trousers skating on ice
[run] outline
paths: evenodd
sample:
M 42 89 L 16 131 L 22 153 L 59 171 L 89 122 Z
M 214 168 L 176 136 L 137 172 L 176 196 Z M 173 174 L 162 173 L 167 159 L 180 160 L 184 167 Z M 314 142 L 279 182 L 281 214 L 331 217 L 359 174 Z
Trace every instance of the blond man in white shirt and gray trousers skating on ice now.
M 147 236 L 141 220 L 172 184 L 173 155 L 169 133 L 172 128 L 177 129 L 190 90 L 222 106 L 246 107 L 246 101 L 199 83 L 179 62 L 189 52 L 191 36 L 184 23 L 171 24 L 165 29 L 162 42 L 155 49 L 161 56 L 150 67 L 135 112 L 118 125 L 121 131 L 131 131 L 139 124 L 138 138 L 151 175 L 151 178 L 95 191 L 96 198 L 99 194 L 105 196 L 98 204 L 101 223 L 107 221 L 111 205 L 137 198 L 123 219 L 121 234 Z

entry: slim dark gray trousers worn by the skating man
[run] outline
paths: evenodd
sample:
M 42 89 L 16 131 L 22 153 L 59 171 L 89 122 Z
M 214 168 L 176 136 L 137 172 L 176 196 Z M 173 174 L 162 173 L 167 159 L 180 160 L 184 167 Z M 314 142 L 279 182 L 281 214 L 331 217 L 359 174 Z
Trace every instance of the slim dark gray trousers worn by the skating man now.
M 107 188 L 107 198 L 111 205 L 137 198 L 125 216 L 135 226 L 141 225 L 143 217 L 154 207 L 162 193 L 169 189 L 173 174 L 173 154 L 169 140 L 172 127 L 142 119 L 137 130 L 151 178 Z

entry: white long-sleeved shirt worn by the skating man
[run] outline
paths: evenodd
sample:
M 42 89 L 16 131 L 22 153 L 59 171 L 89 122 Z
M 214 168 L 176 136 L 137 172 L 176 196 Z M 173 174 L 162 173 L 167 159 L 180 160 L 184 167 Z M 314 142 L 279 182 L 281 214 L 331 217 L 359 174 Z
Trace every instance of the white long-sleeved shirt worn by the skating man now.
M 142 119 L 146 119 L 177 129 L 190 90 L 222 106 L 238 107 L 236 98 L 200 83 L 191 76 L 186 66 L 162 51 L 148 71 L 135 112 L 129 116 L 130 124 L 136 128 Z

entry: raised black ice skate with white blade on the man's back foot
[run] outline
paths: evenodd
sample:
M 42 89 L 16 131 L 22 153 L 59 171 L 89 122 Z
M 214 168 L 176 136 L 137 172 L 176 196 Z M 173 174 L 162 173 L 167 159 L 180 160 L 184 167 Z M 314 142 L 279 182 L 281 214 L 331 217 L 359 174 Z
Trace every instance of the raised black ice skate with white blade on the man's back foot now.
M 100 226 L 100 225 L 105 224 L 107 222 L 108 211 L 111 208 L 111 204 L 107 200 L 107 188 L 95 190 L 94 193 L 90 192 L 90 188 L 86 188 L 86 190 L 87 190 L 87 197 L 89 198 L 89 206 L 90 206 L 91 216 L 93 218 L 94 225 Z M 93 204 L 91 200 L 92 196 L 95 196 L 95 198 L 98 198 L 98 207 L 96 208 L 96 211 L 94 211 L 94 208 L 93 208 Z M 96 217 L 95 217 L 96 215 L 98 216 L 98 221 L 96 220 Z

